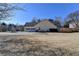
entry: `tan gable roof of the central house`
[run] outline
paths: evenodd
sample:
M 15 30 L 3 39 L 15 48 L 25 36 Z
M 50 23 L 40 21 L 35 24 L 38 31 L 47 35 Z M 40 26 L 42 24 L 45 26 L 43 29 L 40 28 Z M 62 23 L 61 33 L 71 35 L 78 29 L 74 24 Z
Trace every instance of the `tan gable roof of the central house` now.
M 43 26 L 48 26 L 49 28 L 57 28 L 57 26 L 51 23 L 49 20 L 43 20 L 34 27 L 43 27 Z

